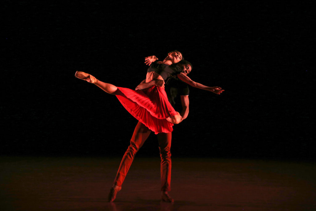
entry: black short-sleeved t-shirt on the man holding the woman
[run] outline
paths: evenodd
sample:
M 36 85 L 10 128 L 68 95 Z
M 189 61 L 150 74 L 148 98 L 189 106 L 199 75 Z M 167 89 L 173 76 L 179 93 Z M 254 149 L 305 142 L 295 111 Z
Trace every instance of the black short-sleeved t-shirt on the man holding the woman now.
M 169 77 L 165 84 L 168 100 L 173 108 L 182 111 L 181 95 L 189 95 L 189 86 L 177 77 Z

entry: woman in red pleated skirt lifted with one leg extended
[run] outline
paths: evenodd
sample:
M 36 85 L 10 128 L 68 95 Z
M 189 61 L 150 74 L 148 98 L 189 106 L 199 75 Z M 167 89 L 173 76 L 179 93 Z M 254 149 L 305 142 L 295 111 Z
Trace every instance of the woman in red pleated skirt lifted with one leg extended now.
M 145 83 L 150 83 L 154 80 L 166 80 L 169 76 L 176 74 L 177 77 L 193 87 L 211 91 L 216 94 L 222 93 L 220 87 L 208 87 L 192 81 L 188 76 L 181 73 L 186 71 L 175 65 L 182 59 L 182 54 L 179 51 L 170 52 L 162 62 L 155 62 L 147 71 Z M 191 67 L 190 67 L 191 68 Z M 167 94 L 163 87 L 152 86 L 141 90 L 131 90 L 124 87 L 117 87 L 109 83 L 104 83 L 97 80 L 94 76 L 76 72 L 75 76 L 79 79 L 86 80 L 100 87 L 106 93 L 115 94 L 125 109 L 130 112 L 137 120 L 146 125 L 155 134 L 173 131 L 173 124 L 179 124 L 182 117 L 179 112 L 176 112 L 167 99 Z

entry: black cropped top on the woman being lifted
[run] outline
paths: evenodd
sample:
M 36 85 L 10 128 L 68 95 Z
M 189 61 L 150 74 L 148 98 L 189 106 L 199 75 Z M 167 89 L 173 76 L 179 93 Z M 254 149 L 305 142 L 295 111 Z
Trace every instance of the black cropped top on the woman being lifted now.
M 173 65 L 159 64 L 157 61 L 155 61 L 151 63 L 151 65 L 147 69 L 147 73 L 152 72 L 152 71 L 161 75 L 163 80 L 166 80 L 168 77 L 172 75 L 179 74 L 181 72 L 181 69 L 176 64 L 173 64 Z

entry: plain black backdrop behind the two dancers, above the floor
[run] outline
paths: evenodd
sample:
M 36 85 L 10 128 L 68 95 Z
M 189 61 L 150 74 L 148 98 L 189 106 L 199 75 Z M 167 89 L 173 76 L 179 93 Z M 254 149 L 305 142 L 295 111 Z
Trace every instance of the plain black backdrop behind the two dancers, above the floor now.
M 2 155 L 119 156 L 137 124 L 76 70 L 134 89 L 144 57 L 179 50 L 190 113 L 173 157 L 315 158 L 312 1 L 4 3 Z M 152 133 L 138 156 L 159 156 Z

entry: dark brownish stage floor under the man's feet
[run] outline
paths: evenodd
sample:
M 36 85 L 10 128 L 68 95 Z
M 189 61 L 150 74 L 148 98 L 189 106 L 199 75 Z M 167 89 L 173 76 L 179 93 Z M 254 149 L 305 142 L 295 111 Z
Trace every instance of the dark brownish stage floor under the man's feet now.
M 172 158 L 170 196 L 160 201 L 160 158 L 136 157 L 107 195 L 120 158 L 1 157 L 0 210 L 316 210 L 315 163 Z

